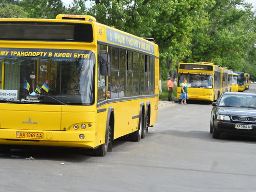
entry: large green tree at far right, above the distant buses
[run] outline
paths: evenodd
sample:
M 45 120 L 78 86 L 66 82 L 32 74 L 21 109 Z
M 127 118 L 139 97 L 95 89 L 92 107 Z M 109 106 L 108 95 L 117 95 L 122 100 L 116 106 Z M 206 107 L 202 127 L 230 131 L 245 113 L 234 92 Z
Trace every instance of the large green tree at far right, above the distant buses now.
M 204 10 L 208 22 L 193 31 L 191 54 L 184 60 L 214 62 L 243 71 L 255 49 L 251 7 L 242 0 L 216 0 Z

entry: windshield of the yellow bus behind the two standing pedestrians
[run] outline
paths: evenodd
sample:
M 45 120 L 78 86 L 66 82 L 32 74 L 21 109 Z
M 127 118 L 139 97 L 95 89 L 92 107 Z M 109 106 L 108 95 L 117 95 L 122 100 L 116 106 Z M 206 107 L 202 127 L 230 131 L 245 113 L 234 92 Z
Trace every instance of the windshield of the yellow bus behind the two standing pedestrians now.
M 193 73 L 193 72 L 180 72 L 178 85 L 181 86 L 181 83 L 184 79 L 187 79 L 187 87 L 195 88 L 212 88 L 213 74 L 211 73 Z

